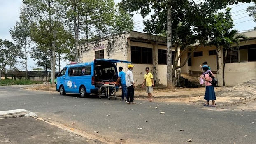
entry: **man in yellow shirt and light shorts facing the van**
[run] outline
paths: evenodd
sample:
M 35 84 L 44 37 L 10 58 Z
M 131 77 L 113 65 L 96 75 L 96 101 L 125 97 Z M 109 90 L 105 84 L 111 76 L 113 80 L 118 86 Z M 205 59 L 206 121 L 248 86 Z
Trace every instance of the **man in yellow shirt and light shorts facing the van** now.
M 144 87 L 145 83 L 146 83 L 146 92 L 148 93 L 149 96 L 149 101 L 152 102 L 152 93 L 153 93 L 153 86 L 155 86 L 154 84 L 154 79 L 153 79 L 153 75 L 151 74 L 151 72 L 149 72 L 149 67 L 146 67 L 146 74 L 144 75 L 144 81 L 142 83 L 142 87 Z

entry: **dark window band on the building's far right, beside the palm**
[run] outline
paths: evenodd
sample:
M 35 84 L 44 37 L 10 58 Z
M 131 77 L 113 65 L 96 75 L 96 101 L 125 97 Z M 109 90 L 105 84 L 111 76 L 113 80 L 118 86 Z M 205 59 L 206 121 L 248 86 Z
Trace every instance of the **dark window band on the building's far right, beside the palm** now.
M 223 58 L 225 52 L 223 52 Z M 256 44 L 240 46 L 239 49 L 232 47 L 228 50 L 225 63 L 256 61 Z

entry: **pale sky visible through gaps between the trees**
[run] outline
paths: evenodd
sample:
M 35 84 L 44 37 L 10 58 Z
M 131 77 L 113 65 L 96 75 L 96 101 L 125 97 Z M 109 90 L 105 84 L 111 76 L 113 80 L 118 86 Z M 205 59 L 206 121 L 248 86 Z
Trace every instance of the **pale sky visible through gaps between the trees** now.
M 115 3 L 120 2 L 121 0 L 114 0 Z M 196 1 L 197 3 L 203 2 L 203 0 Z M 22 0 L 0 0 L 0 39 L 12 40 L 12 37 L 9 33 L 10 28 L 14 28 L 16 21 L 19 21 L 19 8 L 22 5 Z M 239 3 L 237 5 L 229 6 L 232 8 L 232 18 L 234 20 L 235 26 L 233 29 L 237 29 L 240 32 L 251 30 L 256 26 L 256 23 L 252 20 L 252 17 L 249 17 L 249 13 L 246 12 L 248 6 L 253 6 L 253 3 L 243 4 Z M 223 10 L 220 10 L 223 12 Z M 152 14 L 152 13 L 151 13 Z M 146 16 L 144 19 L 140 14 L 135 14 L 133 16 L 134 29 L 135 31 L 143 32 L 145 27 L 142 23 L 143 20 L 150 19 L 150 16 Z M 35 65 L 36 61 L 32 58 L 28 58 L 28 70 L 37 68 Z M 68 61 L 61 61 L 61 68 L 64 67 Z M 19 67 L 22 69 L 21 67 Z

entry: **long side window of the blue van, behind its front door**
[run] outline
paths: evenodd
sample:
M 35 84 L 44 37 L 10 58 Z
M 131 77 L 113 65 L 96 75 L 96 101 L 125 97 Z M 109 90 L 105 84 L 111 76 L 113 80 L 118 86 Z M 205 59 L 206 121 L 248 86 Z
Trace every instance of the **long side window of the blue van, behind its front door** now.
M 91 75 L 91 65 L 72 67 L 68 70 L 69 76 L 84 76 Z

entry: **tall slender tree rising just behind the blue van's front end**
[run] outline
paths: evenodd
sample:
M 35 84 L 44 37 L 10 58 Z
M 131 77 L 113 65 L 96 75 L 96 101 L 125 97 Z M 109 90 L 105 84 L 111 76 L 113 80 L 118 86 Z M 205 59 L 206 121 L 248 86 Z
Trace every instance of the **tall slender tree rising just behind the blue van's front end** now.
M 31 39 L 37 44 L 37 48 L 50 53 L 51 79 L 54 79 L 56 45 L 58 42 L 67 42 L 63 37 L 68 33 L 63 29 L 62 19 L 56 14 L 61 11 L 61 7 L 57 0 L 23 0 L 23 4 L 31 23 Z

